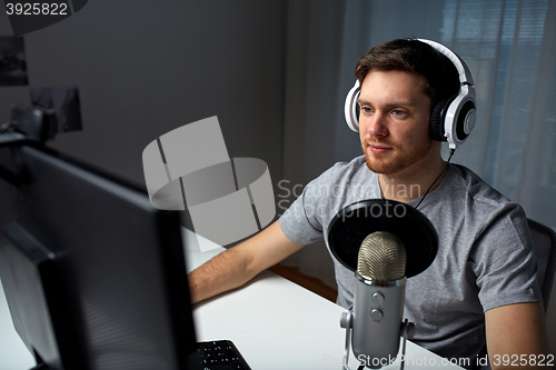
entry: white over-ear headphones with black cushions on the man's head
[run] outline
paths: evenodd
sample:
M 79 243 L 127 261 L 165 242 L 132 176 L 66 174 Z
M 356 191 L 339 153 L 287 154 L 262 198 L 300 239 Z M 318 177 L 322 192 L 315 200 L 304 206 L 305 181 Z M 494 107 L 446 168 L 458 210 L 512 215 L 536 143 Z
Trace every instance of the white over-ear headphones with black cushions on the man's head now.
M 464 60 L 445 46 L 430 40 L 418 39 L 418 41 L 428 43 L 446 56 L 456 66 L 459 74 L 459 93 L 439 101 L 433 108 L 429 121 L 430 137 L 437 141 L 447 141 L 450 149 L 456 149 L 464 143 L 475 127 L 477 113 L 471 72 Z M 346 97 L 344 109 L 348 127 L 356 132 L 359 131 L 357 99 L 360 91 L 359 81 L 356 80 Z

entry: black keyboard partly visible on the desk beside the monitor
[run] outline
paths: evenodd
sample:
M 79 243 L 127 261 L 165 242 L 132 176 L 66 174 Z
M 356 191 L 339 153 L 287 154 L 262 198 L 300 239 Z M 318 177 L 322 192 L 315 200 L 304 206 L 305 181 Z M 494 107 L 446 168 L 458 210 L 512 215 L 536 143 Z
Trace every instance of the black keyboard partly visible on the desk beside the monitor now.
M 230 340 L 198 342 L 202 370 L 251 370 Z

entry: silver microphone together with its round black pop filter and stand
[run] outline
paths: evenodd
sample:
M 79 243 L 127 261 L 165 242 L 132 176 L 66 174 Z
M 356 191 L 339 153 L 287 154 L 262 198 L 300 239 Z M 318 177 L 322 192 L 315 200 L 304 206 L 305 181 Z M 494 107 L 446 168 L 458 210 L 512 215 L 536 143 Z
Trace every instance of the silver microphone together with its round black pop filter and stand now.
M 400 369 L 415 324 L 401 321 L 406 281 L 435 260 L 438 236 L 430 221 L 411 206 L 367 199 L 341 209 L 328 227 L 334 257 L 355 273 L 354 307 L 341 314 L 346 329 L 342 369 L 350 349 L 363 367 L 380 369 L 396 360 Z M 353 341 L 353 346 L 351 346 Z

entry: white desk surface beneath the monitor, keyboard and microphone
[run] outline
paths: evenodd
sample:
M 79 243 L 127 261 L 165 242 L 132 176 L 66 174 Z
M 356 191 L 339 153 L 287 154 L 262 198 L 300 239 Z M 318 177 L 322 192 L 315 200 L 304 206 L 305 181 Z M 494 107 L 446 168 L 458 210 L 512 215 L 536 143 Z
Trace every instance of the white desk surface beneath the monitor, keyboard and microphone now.
M 215 246 L 201 252 L 195 236 L 186 229 L 183 239 L 188 271 L 224 250 Z M 230 339 L 254 370 L 339 370 L 345 346 L 345 330 L 339 320 L 344 311 L 320 296 L 265 271 L 240 289 L 197 304 L 193 319 L 199 341 Z M 434 369 L 461 369 L 450 363 L 443 366 L 446 360 L 411 342 L 407 344 L 406 357 L 408 370 L 433 368 L 431 361 L 436 363 Z M 357 369 L 353 354 L 349 364 Z M 0 370 L 27 370 L 33 366 L 33 358 L 13 330 L 0 290 Z M 399 369 L 399 366 L 384 369 Z

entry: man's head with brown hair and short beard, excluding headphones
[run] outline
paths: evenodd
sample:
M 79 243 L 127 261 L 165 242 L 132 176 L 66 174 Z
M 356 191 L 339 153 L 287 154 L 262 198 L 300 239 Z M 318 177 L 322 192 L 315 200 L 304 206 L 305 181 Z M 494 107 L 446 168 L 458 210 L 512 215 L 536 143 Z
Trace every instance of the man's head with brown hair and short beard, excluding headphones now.
M 385 173 L 436 171 L 440 142 L 429 136 L 433 107 L 457 94 L 451 61 L 418 40 L 373 48 L 357 63 L 359 134 L 370 170 Z

